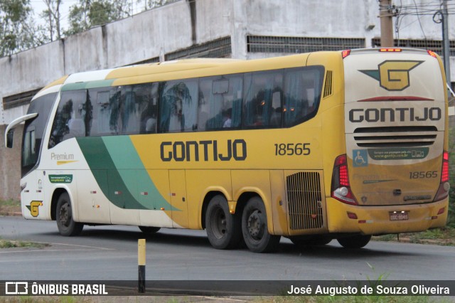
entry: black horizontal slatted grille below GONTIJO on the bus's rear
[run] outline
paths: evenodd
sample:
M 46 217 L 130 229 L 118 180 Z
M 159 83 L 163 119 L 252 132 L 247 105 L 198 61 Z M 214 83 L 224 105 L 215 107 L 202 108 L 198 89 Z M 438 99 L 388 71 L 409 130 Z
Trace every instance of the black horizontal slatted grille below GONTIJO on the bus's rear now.
M 358 147 L 422 147 L 434 143 L 436 127 L 360 127 L 354 131 Z

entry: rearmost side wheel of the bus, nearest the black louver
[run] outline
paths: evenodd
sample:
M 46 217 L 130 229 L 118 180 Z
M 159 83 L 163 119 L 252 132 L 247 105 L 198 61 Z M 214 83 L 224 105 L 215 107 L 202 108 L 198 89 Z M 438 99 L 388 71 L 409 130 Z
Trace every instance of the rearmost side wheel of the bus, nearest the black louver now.
M 278 249 L 281 236 L 269 234 L 265 206 L 257 196 L 250 198 L 243 208 L 242 233 L 245 244 L 252 252 L 272 252 Z

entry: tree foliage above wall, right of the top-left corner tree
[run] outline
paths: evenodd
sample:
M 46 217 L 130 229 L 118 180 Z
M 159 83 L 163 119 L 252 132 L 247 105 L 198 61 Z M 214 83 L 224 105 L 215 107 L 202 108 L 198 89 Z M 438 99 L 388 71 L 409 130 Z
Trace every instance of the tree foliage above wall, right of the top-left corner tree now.
M 79 0 L 70 8 L 70 28 L 65 35 L 73 35 L 92 26 L 102 25 L 129 16 L 128 0 Z

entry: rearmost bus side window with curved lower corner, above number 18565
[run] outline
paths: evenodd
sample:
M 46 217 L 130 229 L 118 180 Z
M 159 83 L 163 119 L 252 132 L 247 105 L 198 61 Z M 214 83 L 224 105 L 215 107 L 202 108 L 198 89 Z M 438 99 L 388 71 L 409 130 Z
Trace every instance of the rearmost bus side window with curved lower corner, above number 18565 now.
M 284 76 L 284 126 L 304 122 L 316 115 L 321 100 L 324 68 L 293 68 Z

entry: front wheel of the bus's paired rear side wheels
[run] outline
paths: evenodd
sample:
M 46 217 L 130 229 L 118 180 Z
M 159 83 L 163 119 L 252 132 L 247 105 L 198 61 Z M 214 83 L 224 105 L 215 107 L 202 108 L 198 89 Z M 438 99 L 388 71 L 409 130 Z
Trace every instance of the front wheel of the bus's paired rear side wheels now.
M 240 216 L 231 214 L 224 196 L 214 196 L 205 212 L 205 230 L 210 244 L 218 250 L 237 248 L 242 239 Z

